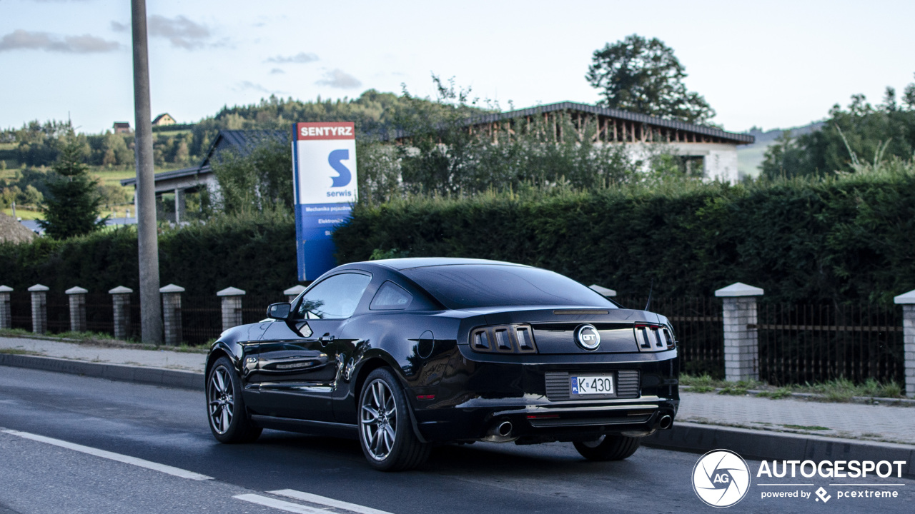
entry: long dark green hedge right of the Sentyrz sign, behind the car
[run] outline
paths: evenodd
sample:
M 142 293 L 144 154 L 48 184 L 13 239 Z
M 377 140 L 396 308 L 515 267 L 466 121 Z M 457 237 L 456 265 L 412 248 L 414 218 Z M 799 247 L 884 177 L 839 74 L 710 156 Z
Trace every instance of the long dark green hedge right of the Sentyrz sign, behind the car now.
M 340 262 L 376 255 L 522 262 L 621 295 L 708 296 L 743 282 L 771 301 L 867 300 L 915 288 L 915 177 L 409 198 L 358 206 Z M 384 251 L 384 252 L 379 252 Z

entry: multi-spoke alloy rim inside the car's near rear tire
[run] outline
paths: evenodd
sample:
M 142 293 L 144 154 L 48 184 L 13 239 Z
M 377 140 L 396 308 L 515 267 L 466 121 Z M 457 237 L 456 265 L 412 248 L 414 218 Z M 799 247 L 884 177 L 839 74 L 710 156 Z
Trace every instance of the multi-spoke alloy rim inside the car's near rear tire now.
M 397 434 L 397 403 L 384 380 L 374 380 L 362 397 L 362 442 L 375 460 L 391 455 Z

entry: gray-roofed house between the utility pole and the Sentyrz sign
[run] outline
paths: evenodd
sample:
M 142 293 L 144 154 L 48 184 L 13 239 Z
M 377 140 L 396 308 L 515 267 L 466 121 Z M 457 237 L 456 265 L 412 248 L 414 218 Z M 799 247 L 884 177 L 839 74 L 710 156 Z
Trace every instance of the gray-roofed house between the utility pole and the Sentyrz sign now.
M 175 196 L 174 213 L 164 213 L 163 218 L 176 222 L 184 220 L 186 218 L 185 198 L 188 193 L 199 193 L 206 188 L 210 194 L 219 194 L 219 183 L 210 169 L 210 160 L 229 149 L 239 155 L 247 155 L 255 146 L 270 139 L 285 144 L 289 141 L 289 131 L 222 130 L 216 135 L 216 139 L 210 145 L 210 150 L 204 155 L 203 162 L 199 166 L 156 173 L 156 198 L 161 198 L 163 195 Z M 121 180 L 121 185 L 136 188 L 136 178 L 124 178 Z

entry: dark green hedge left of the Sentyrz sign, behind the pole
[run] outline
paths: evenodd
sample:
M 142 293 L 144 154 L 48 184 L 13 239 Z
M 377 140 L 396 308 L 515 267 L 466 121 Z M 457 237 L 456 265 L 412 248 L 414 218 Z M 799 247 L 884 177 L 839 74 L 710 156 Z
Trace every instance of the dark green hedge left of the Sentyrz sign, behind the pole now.
M 92 293 L 117 285 L 139 291 L 134 227 L 67 241 L 40 238 L 0 245 L 0 284 L 25 291 L 45 284 L 52 292 L 74 285 Z M 296 284 L 296 224 L 291 217 L 210 220 L 159 235 L 159 280 L 188 295 L 228 286 L 248 294 L 281 295 Z

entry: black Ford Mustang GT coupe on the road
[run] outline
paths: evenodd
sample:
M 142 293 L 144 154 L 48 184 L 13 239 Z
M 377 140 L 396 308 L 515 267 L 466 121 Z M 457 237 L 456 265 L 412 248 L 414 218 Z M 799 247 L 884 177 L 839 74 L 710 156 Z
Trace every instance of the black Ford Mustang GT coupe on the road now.
M 436 443 L 568 441 L 623 459 L 670 428 L 679 360 L 664 316 L 510 262 L 393 259 L 322 275 L 207 359 L 223 443 L 264 428 L 358 437 L 407 469 Z

